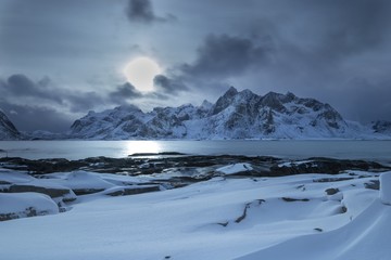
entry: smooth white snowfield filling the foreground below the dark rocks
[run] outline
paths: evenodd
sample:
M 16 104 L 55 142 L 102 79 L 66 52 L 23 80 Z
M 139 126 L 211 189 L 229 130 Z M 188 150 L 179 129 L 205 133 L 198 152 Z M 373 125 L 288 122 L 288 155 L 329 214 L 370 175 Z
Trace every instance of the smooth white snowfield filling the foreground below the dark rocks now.
M 377 176 L 219 177 L 133 196 L 84 195 L 63 213 L 0 222 L 0 259 L 389 259 L 391 207 L 364 185 Z M 345 180 L 317 182 L 325 178 Z M 331 187 L 339 192 L 327 195 Z

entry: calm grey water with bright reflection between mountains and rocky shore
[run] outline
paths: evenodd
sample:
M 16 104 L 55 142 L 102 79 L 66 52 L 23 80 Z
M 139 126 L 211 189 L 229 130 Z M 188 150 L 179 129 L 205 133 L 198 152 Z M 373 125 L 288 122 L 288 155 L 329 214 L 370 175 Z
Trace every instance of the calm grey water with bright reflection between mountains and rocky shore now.
M 0 157 L 81 159 L 121 158 L 135 153 L 179 152 L 190 155 L 332 157 L 391 161 L 391 141 L 2 141 Z

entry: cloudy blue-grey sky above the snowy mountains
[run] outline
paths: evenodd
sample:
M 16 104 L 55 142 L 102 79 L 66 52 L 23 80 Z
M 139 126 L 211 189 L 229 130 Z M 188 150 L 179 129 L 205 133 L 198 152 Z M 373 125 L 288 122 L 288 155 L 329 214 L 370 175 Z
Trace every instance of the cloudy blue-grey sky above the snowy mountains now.
M 391 120 L 390 13 L 389 0 L 1 0 L 0 108 L 22 131 L 60 132 L 88 110 L 199 105 L 234 86 Z M 127 72 L 138 58 L 149 88 Z

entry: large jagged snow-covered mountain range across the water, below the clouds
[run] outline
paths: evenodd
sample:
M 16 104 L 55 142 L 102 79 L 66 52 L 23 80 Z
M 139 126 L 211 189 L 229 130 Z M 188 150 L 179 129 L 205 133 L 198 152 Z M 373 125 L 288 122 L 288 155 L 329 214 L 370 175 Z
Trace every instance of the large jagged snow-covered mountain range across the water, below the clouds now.
M 345 121 L 330 105 L 292 93 L 257 95 L 231 87 L 215 104 L 136 106 L 89 112 L 70 131 L 76 139 L 373 139 L 374 129 Z

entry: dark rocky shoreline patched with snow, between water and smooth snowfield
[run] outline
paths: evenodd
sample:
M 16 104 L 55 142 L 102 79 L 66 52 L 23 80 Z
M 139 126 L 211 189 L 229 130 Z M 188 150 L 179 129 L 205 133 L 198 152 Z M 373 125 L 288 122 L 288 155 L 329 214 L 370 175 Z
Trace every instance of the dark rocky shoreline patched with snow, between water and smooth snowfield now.
M 1 211 L 0 221 L 64 212 L 72 209 L 72 205 L 83 196 L 135 195 L 182 187 L 214 178 L 251 178 L 258 181 L 266 177 L 325 173 L 329 176 L 318 179 L 318 182 L 338 182 L 368 178 L 365 172 L 390 170 L 389 165 L 366 160 L 288 160 L 268 156 L 179 153 L 79 160 L 0 158 L 0 200 L 16 199 L 25 203 L 20 210 Z M 346 172 L 349 176 L 344 178 L 336 176 Z M 365 187 L 379 190 L 378 174 L 368 178 Z M 35 205 L 35 199 L 30 204 L 26 203 L 31 198 L 43 206 L 40 208 Z

